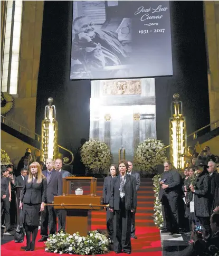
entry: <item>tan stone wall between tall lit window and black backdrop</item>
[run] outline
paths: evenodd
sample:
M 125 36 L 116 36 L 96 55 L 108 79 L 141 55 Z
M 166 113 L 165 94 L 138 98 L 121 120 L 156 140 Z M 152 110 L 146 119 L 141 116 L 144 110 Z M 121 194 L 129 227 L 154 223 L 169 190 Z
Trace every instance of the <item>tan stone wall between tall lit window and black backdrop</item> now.
M 35 131 L 36 91 L 40 65 L 44 1 L 23 1 L 18 94 L 6 115 L 19 125 Z

